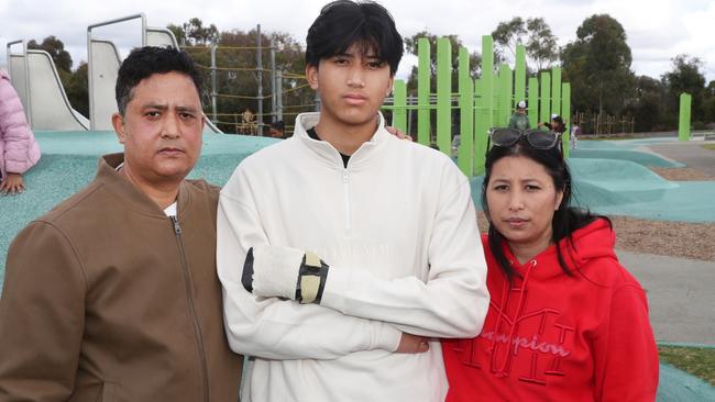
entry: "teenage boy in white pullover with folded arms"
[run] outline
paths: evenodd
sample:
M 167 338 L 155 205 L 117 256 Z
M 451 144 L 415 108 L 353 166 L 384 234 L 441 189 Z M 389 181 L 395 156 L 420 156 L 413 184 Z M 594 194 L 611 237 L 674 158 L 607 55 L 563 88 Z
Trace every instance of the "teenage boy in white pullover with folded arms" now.
M 217 264 L 244 401 L 443 401 L 438 337 L 474 337 L 488 304 L 469 180 L 400 141 L 380 107 L 403 55 L 374 2 L 308 31 L 321 111 L 244 159 L 221 191 Z M 306 253 L 312 250 L 315 253 Z

